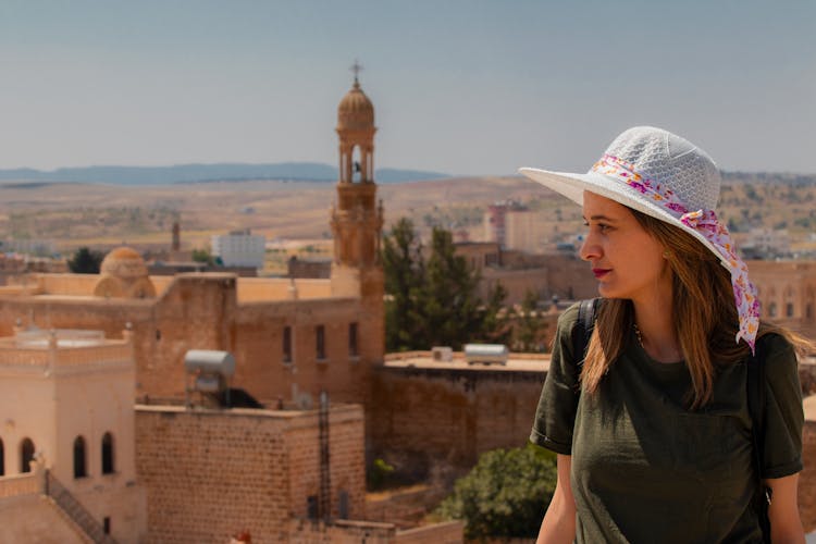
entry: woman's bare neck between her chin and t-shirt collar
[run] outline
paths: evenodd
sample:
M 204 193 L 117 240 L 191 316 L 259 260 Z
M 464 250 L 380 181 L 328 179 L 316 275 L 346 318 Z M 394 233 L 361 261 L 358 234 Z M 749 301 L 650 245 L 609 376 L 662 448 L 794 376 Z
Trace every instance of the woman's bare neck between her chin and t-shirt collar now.
M 680 338 L 675 330 L 670 297 L 648 304 L 632 301 L 638 341 L 643 349 L 658 362 L 683 360 Z

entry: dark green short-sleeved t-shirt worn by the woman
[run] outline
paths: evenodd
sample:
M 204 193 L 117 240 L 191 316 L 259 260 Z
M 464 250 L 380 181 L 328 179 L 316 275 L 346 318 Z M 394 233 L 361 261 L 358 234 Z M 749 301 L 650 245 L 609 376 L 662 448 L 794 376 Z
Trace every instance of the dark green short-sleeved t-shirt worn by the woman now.
M 530 440 L 572 456 L 576 542 L 762 542 L 746 366 L 717 372 L 714 397 L 690 411 L 683 362 L 653 360 L 630 334 L 595 395 L 579 394 L 571 332 L 578 305 L 558 320 Z M 765 358 L 764 478 L 802 470 L 804 415 L 798 361 L 779 335 Z

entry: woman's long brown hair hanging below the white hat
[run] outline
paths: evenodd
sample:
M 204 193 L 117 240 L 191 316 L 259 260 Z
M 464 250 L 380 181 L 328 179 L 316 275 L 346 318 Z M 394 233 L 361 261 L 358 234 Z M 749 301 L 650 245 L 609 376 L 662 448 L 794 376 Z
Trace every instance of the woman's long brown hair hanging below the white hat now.
M 689 233 L 664 221 L 629 209 L 640 225 L 667 249 L 671 271 L 675 332 L 691 374 L 690 408 L 705 406 L 712 398 L 716 364 L 732 364 L 749 356 L 744 342 L 737 344 L 739 317 L 731 277 L 717 257 Z M 634 323 L 628 299 L 605 299 L 590 338 L 581 380 L 594 394 L 609 367 L 626 348 Z M 813 343 L 784 329 L 763 322 L 759 335 L 775 332 L 786 336 L 800 351 Z

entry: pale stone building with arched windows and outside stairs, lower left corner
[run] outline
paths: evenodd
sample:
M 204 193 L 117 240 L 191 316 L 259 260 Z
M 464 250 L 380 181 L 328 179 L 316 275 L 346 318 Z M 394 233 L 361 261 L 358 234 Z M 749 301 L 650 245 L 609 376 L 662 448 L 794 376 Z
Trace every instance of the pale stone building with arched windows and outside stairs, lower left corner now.
M 0 541 L 144 542 L 129 334 L 0 338 Z

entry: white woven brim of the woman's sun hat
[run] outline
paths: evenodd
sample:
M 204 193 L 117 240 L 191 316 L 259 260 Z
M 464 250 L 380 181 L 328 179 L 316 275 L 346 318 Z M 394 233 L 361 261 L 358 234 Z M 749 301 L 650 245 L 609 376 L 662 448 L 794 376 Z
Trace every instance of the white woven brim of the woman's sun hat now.
M 560 195 L 564 195 L 579 206 L 583 206 L 583 191 L 589 190 L 590 193 L 615 200 L 628 208 L 632 208 L 645 213 L 646 215 L 651 215 L 677 226 L 698 239 L 720 260 L 724 265 L 726 265 L 726 268 L 728 268 L 728 261 L 726 258 L 720 255 L 717 248 L 708 242 L 705 236 L 700 234 L 696 230 L 683 224 L 677 217 L 672 215 L 668 210 L 654 202 L 642 193 L 629 187 L 627 184 L 614 177 L 592 171 L 585 174 L 576 174 L 571 172 L 553 172 L 533 168 L 519 169 L 519 173 Z

